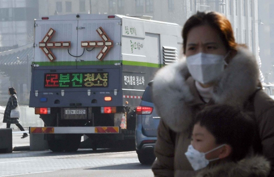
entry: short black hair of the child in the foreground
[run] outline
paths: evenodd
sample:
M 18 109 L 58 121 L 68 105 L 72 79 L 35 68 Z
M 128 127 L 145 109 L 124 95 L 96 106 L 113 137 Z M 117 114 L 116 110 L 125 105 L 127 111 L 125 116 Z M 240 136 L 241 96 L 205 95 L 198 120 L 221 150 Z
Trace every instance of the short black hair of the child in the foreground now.
M 247 156 L 253 144 L 254 121 L 239 108 L 214 105 L 204 108 L 196 115 L 194 124 L 205 127 L 216 139 L 216 144 L 232 147 L 229 158 L 239 161 Z

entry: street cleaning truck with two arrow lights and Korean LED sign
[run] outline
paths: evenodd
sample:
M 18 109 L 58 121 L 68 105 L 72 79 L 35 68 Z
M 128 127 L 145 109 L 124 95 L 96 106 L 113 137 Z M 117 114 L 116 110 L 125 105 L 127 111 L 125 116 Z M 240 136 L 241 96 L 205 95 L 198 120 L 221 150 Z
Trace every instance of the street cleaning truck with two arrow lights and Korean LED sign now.
M 150 16 L 67 14 L 34 20 L 29 107 L 53 152 L 134 146 L 134 116 L 155 72 L 178 60 L 182 27 Z

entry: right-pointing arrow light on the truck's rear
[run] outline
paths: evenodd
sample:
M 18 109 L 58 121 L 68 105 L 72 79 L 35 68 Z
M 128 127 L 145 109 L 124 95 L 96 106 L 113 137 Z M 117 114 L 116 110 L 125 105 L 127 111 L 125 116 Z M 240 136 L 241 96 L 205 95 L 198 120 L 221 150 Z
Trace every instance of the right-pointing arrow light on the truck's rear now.
M 100 26 L 97 30 L 103 41 L 81 41 L 82 47 L 102 47 L 102 50 L 97 55 L 97 59 L 102 61 L 106 54 L 109 52 L 110 48 L 113 47 L 113 40 L 109 38 L 104 29 Z

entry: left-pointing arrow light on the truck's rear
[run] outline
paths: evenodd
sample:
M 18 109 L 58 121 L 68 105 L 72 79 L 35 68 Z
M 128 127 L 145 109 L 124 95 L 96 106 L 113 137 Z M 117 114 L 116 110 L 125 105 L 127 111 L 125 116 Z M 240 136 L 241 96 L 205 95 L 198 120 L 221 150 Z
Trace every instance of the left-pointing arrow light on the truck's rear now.
M 50 39 L 54 35 L 55 30 L 50 28 L 44 38 L 39 42 L 39 48 L 45 53 L 49 61 L 54 61 L 56 57 L 50 51 L 49 48 L 70 48 L 70 41 L 63 42 L 50 42 Z

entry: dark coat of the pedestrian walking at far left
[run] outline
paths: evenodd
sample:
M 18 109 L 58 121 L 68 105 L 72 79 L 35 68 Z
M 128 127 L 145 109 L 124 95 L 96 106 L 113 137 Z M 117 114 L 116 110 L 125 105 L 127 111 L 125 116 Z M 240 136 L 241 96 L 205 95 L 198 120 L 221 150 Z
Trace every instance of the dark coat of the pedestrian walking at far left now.
M 12 101 L 11 101 L 12 100 Z M 5 107 L 3 123 L 7 124 L 19 124 L 19 118 L 10 118 L 10 111 L 15 109 L 18 105 L 17 96 L 11 95 Z

